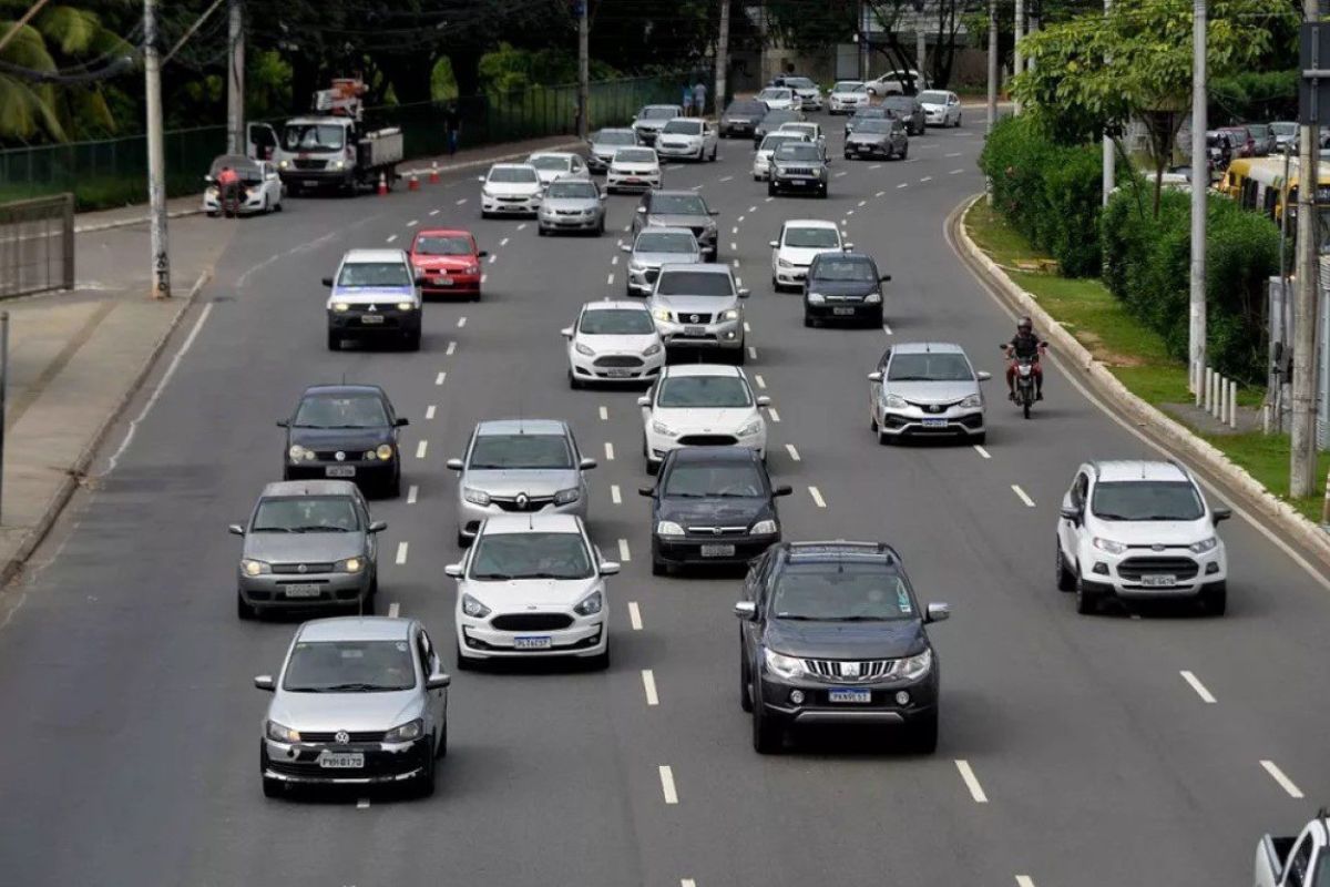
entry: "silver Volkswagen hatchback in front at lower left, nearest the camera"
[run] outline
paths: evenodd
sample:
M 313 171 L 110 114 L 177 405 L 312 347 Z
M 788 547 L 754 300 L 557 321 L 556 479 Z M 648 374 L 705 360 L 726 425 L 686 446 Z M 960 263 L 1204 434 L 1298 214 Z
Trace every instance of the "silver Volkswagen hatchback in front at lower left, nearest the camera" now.
M 434 794 L 448 751 L 448 685 L 420 622 L 344 617 L 306 622 L 274 678 L 263 718 L 263 794 L 301 785 L 411 786 Z

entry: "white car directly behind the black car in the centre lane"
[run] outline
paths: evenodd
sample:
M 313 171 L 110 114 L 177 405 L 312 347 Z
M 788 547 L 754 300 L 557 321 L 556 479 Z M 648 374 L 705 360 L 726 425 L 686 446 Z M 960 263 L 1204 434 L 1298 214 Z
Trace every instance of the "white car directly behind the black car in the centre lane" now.
M 637 399 L 642 408 L 646 471 L 654 475 L 678 447 L 749 447 L 766 457 L 766 419 L 771 404 L 754 396 L 738 367 L 685 363 L 661 370 L 652 391 Z

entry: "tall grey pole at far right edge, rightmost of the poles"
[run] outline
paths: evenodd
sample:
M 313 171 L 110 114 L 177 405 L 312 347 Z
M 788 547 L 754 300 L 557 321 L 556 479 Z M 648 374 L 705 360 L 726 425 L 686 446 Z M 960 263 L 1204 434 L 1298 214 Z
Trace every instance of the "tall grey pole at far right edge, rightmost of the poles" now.
M 1321 20 L 1318 0 L 1302 0 L 1302 17 L 1306 23 Z M 1298 251 L 1294 273 L 1298 282 L 1293 302 L 1293 427 L 1291 452 L 1289 453 L 1289 495 L 1310 496 L 1315 489 L 1315 447 L 1317 447 L 1317 191 L 1319 190 L 1319 160 L 1317 148 L 1321 134 L 1321 114 L 1318 105 L 1318 84 L 1315 73 L 1330 63 L 1319 57 L 1321 41 L 1311 40 L 1310 101 L 1298 121 Z M 1310 110 L 1310 114 L 1306 113 Z

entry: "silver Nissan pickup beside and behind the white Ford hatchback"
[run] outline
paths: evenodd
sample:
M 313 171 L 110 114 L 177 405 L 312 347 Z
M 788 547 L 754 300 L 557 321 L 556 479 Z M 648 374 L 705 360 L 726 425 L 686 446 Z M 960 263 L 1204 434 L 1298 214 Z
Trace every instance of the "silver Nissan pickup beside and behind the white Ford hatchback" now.
M 743 306 L 749 291 L 728 265 L 661 266 L 646 302 L 666 348 L 708 348 L 743 363 Z

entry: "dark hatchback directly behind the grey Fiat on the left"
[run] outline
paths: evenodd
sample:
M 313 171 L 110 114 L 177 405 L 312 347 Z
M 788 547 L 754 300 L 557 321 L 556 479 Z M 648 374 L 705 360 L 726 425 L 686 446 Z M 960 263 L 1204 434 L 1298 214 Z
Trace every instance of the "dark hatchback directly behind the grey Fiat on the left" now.
M 283 480 L 340 477 L 360 489 L 402 495 L 398 416 L 383 388 L 367 384 L 313 386 L 289 419 Z

